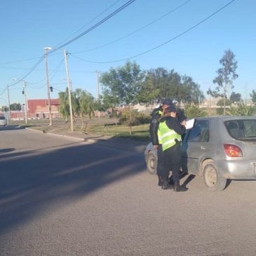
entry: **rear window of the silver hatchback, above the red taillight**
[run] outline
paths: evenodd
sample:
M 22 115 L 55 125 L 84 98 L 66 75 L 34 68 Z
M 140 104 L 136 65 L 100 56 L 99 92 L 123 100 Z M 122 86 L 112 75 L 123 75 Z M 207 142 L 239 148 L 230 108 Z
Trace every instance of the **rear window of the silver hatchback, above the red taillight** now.
M 225 126 L 236 140 L 256 141 L 256 119 L 229 120 Z

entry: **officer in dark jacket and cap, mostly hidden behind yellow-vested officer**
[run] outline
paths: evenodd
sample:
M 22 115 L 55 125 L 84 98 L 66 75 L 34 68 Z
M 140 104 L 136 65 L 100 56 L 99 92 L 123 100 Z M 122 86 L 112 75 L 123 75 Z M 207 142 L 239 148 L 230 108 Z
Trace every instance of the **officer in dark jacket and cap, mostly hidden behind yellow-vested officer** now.
M 149 135 L 151 138 L 151 142 L 153 144 L 154 149 L 159 148 L 159 138 L 157 136 L 157 130 L 159 128 L 159 120 L 163 116 L 163 112 L 167 109 L 170 105 L 173 105 L 173 101 L 170 99 L 163 100 L 163 104 L 160 107 L 157 107 L 153 110 L 151 114 L 151 123 L 149 126 Z M 162 186 L 162 179 L 159 177 L 159 186 Z

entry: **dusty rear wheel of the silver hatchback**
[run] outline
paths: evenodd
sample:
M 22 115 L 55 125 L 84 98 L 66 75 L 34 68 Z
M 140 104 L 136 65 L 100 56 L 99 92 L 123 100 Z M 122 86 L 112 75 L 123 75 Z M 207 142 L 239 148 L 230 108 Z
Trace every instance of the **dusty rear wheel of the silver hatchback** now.
M 213 160 L 203 163 L 203 180 L 210 191 L 222 191 L 227 186 L 227 179 L 220 174 Z

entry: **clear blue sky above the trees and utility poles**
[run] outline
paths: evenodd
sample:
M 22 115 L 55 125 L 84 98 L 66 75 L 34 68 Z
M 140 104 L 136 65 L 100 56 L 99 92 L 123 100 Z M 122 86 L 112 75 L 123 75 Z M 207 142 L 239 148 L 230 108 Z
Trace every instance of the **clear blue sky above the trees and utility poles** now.
M 1 0 L 0 106 L 8 104 L 7 85 L 11 104 L 24 103 L 23 80 L 27 99 L 48 98 L 46 47 L 53 49 L 51 98 L 67 88 L 64 50 L 72 90 L 97 97 L 97 75 L 130 60 L 191 76 L 208 97 L 230 49 L 238 62 L 234 91 L 248 99 L 256 90 L 255 10 L 255 0 Z

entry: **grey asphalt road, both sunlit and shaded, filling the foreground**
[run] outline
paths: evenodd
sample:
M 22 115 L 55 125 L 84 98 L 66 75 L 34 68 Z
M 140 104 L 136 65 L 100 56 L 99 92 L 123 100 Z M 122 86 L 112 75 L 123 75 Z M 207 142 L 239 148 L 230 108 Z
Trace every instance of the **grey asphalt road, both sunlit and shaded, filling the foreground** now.
M 106 145 L 0 130 L 0 255 L 256 255 L 256 182 L 163 191 Z

